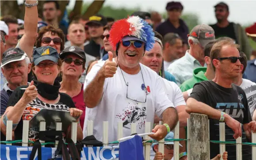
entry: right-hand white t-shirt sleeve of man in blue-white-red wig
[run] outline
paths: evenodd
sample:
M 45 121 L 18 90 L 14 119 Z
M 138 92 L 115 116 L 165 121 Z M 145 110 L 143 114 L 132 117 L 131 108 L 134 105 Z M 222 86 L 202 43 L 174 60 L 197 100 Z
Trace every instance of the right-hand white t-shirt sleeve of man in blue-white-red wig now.
M 173 103 L 168 99 L 164 88 L 163 88 L 163 81 L 161 80 L 162 77 L 157 76 L 156 82 L 156 92 L 154 93 L 155 96 L 155 113 L 159 118 L 162 118 L 162 113 L 168 107 L 174 107 Z

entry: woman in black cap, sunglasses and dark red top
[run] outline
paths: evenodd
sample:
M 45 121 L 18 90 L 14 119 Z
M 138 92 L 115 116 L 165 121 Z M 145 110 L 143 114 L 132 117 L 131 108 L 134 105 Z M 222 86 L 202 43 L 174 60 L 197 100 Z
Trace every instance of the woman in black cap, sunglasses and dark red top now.
M 60 58 L 62 60 L 60 92 L 69 95 L 75 103 L 76 108 L 83 110 L 83 114 L 80 117 L 80 126 L 83 129 L 85 117 L 84 85 L 79 82 L 79 78 L 85 69 L 85 53 L 79 47 L 70 46 L 61 52 Z

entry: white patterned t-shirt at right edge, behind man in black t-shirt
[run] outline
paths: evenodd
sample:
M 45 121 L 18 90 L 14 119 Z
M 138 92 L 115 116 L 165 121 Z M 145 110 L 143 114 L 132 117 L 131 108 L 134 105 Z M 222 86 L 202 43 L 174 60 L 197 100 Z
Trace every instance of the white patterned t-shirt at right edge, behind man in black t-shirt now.
M 245 91 L 250 113 L 253 115 L 253 112 L 256 109 L 256 83 L 247 79 L 243 79 L 240 87 Z

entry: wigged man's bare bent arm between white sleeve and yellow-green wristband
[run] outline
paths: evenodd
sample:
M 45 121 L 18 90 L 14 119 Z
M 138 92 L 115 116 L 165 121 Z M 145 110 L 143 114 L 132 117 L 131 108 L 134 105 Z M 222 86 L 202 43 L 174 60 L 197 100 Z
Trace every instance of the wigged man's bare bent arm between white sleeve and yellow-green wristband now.
M 173 130 L 179 120 L 176 108 L 169 107 L 162 113 L 163 123 L 168 124 L 170 130 Z

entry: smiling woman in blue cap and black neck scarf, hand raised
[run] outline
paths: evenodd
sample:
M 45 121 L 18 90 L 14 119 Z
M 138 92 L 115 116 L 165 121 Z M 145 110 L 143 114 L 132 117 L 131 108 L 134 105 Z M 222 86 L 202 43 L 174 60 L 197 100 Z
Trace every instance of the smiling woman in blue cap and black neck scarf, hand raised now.
M 6 124 L 10 120 L 15 134 L 14 140 L 21 140 L 23 120 L 31 120 L 41 109 L 51 109 L 70 111 L 70 115 L 78 122 L 77 140 L 82 140 L 83 134 L 79 120 L 83 111 L 76 109 L 69 95 L 59 92 L 61 85 L 55 80 L 61 69 L 57 50 L 50 46 L 35 49 L 31 68 L 34 75 L 31 83 L 16 88 L 10 96 L 8 107 L 0 120 L 2 133 L 6 134 Z M 67 128 L 62 133 L 64 138 L 71 137 L 71 127 L 67 126 Z M 55 130 L 55 127 L 46 123 L 47 130 Z M 30 141 L 39 139 L 39 126 L 29 128 L 28 138 Z

